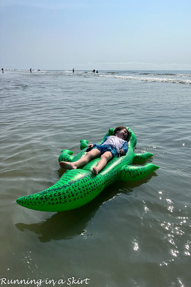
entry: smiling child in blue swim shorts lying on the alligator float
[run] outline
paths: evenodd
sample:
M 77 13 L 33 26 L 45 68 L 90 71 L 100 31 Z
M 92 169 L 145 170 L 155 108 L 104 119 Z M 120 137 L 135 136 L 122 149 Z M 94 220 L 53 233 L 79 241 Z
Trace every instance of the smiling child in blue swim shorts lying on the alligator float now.
M 92 172 L 97 175 L 107 162 L 117 156 L 123 156 L 128 150 L 127 138 L 129 132 L 126 127 L 119 126 L 114 130 L 114 135 L 105 138 L 102 144 L 88 144 L 85 156 L 76 162 L 60 162 L 60 166 L 66 169 L 76 169 L 84 166 L 93 158 L 100 157 L 97 166 L 94 166 Z

